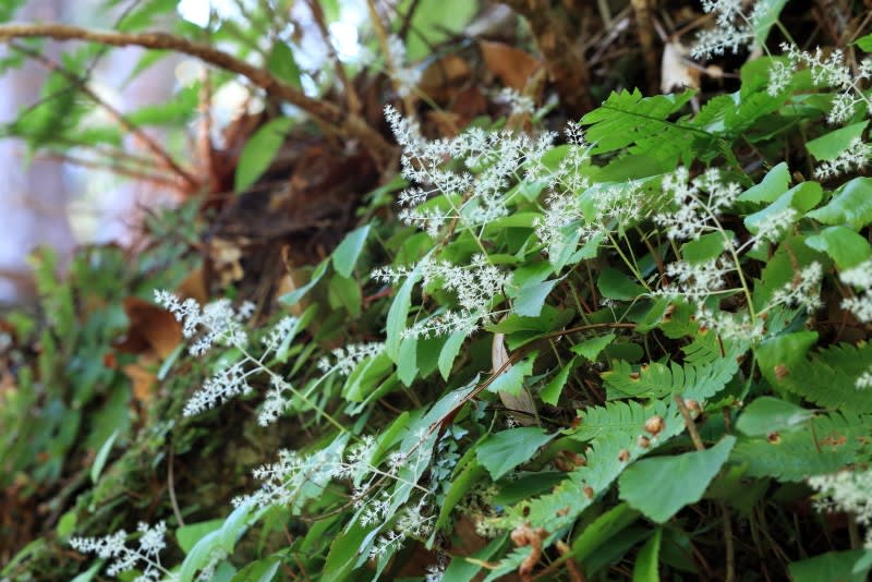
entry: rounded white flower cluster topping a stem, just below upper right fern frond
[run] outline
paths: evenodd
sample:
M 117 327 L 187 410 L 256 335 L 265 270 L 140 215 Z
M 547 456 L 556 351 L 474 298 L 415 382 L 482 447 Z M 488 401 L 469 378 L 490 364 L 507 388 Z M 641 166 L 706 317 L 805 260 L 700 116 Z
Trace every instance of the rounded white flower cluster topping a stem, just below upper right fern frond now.
M 738 184 L 724 183 L 716 168 L 690 180 L 688 169 L 679 167 L 663 179 L 663 192 L 671 197 L 673 208 L 654 216 L 666 227 L 669 239 L 699 239 L 705 232 L 723 230 L 717 218 L 741 193 Z

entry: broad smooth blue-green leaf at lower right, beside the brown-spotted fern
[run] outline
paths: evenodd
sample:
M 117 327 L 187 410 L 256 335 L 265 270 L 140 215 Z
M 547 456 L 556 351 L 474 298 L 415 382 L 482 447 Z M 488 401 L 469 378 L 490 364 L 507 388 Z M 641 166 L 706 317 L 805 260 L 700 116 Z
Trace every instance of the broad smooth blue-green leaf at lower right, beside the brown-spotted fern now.
M 735 444 L 736 437 L 725 436 L 711 449 L 637 461 L 618 481 L 620 498 L 651 520 L 665 523 L 682 507 L 702 499 Z

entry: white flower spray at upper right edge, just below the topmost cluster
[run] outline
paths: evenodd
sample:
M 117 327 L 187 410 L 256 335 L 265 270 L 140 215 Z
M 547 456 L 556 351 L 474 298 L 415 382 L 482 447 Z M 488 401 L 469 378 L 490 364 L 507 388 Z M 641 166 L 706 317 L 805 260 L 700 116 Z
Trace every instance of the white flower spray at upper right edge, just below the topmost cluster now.
M 814 52 L 800 50 L 794 45 L 783 44 L 782 50 L 787 56 L 789 66 L 785 63 L 774 64 L 770 70 L 770 95 L 777 95 L 789 83 L 788 75 L 801 66 L 809 69 L 812 82 L 819 86 L 834 87 L 838 93 L 833 98 L 833 104 L 826 120 L 832 123 L 844 123 L 853 117 L 858 105 L 865 106 L 872 113 L 872 101 L 863 93 L 861 83 L 872 78 L 872 59 L 867 58 L 855 74 L 845 63 L 845 54 L 834 50 L 824 56 L 818 48 Z

